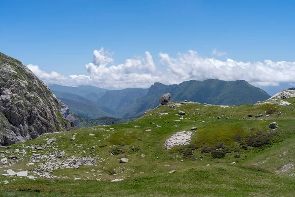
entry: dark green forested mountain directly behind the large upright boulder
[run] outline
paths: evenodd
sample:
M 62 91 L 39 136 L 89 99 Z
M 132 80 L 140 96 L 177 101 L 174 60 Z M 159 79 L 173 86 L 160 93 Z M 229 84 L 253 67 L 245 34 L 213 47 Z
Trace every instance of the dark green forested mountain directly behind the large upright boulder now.
M 146 110 L 156 107 L 158 98 L 165 93 L 172 95 L 172 101 L 189 100 L 219 105 L 254 104 L 257 101 L 270 98 L 265 91 L 244 80 L 191 80 L 169 86 L 155 83 L 148 89 L 148 94 L 145 97 L 129 107 L 123 118 L 140 116 Z

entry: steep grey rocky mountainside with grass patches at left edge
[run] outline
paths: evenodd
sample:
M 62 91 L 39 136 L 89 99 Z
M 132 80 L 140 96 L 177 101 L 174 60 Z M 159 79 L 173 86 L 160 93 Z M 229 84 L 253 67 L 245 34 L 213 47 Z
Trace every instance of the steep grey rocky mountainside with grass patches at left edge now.
M 72 129 L 58 99 L 28 67 L 0 53 L 0 145 Z

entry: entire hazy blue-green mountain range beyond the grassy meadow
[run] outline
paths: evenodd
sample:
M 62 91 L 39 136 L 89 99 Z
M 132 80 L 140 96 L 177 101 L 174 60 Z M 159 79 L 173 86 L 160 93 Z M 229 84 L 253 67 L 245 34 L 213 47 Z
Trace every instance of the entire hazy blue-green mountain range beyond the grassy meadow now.
M 270 98 L 264 90 L 244 80 L 190 80 L 178 85 L 165 85 L 157 82 L 148 89 L 106 90 L 91 86 L 83 88 L 81 86 L 66 87 L 59 85 L 51 85 L 50 88 L 59 99 L 71 108 L 73 113 L 79 113 L 77 115 L 90 119 L 102 116 L 118 118 L 141 116 L 146 110 L 155 108 L 159 104 L 159 98 L 165 93 L 171 94 L 171 101 L 189 100 L 223 105 L 254 104 L 259 100 Z M 92 93 L 94 97 L 88 98 L 88 95 Z M 84 110 L 83 106 L 86 105 L 88 107 Z M 88 110 L 92 112 L 89 113 Z M 85 114 L 90 115 L 86 116 Z

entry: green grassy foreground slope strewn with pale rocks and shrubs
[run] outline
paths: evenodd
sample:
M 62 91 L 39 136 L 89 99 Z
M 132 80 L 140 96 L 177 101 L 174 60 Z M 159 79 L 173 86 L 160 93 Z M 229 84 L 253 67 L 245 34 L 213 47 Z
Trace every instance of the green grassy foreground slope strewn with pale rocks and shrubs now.
M 290 104 L 170 102 L 129 124 L 46 134 L 14 144 L 1 152 L 10 164 L 0 173 L 28 170 L 36 180 L 0 176 L 1 183 L 8 181 L 1 193 L 294 196 L 295 98 L 284 101 Z M 269 128 L 272 122 L 278 128 Z M 110 182 L 115 179 L 120 181 Z

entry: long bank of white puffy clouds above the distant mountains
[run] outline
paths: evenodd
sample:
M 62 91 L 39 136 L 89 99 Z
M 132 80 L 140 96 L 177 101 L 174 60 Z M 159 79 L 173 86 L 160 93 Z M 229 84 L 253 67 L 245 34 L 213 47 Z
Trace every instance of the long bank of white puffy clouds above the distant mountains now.
M 213 50 L 214 56 L 226 55 Z M 295 62 L 237 62 L 232 59 L 221 61 L 215 58 L 203 58 L 197 52 L 189 50 L 175 57 L 167 53 L 158 54 L 158 69 L 153 57 L 147 51 L 145 57 L 125 60 L 124 64 L 112 65 L 113 53 L 104 48 L 94 50 L 93 61 L 85 68 L 87 75 L 64 76 L 56 71 L 47 73 L 39 66 L 28 68 L 48 84 L 66 86 L 93 85 L 108 89 L 147 88 L 154 82 L 164 84 L 181 83 L 187 80 L 220 79 L 226 81 L 246 80 L 255 86 L 278 86 L 282 82 L 295 82 Z M 164 69 L 163 69 L 164 68 Z

